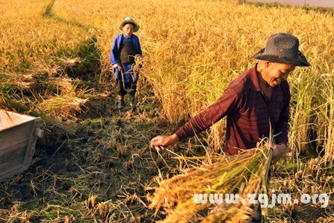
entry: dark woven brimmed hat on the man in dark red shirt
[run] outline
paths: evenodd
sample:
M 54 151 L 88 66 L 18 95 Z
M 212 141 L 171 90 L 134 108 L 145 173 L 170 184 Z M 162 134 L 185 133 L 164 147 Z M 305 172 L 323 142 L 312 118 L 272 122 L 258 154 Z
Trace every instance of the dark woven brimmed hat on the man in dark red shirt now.
M 298 48 L 299 39 L 296 36 L 289 33 L 276 33 L 269 37 L 266 47 L 253 58 L 294 66 L 310 66 Z

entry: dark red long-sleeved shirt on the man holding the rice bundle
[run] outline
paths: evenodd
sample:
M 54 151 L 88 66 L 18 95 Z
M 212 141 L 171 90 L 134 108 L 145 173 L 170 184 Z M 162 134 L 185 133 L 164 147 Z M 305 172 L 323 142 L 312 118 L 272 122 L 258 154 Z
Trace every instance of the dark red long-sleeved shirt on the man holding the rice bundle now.
M 289 84 L 273 87 L 271 100 L 262 92 L 256 75 L 256 65 L 234 79 L 213 105 L 177 130 L 180 141 L 202 132 L 227 116 L 227 155 L 238 148 L 255 148 L 263 137 L 269 137 L 270 124 L 276 144 L 287 144 L 289 122 Z

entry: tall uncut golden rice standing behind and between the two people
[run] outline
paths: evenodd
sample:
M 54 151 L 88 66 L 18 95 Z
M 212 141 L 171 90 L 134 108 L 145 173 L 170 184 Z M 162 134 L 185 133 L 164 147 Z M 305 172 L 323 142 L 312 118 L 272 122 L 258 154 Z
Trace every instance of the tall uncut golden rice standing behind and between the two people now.
M 214 102 L 234 77 L 255 63 L 251 56 L 264 47 L 272 33 L 292 33 L 301 40 L 301 51 L 312 67 L 297 68 L 289 77 L 289 144 L 297 153 L 305 151 L 311 140 L 322 146 L 331 131 L 329 120 L 333 118 L 323 105 L 333 107 L 333 100 L 322 91 L 333 92 L 333 86 L 325 84 L 333 82 L 334 72 L 334 20 L 330 11 L 228 0 L 100 0 L 93 4 L 88 0 L 59 0 L 54 12 L 98 29 L 103 70 L 110 70 L 109 51 L 113 37 L 120 33 L 120 22 L 126 16 L 134 17 L 141 25 L 138 36 L 145 55 L 142 75 L 152 84 L 162 114 L 172 123 Z M 216 146 L 223 131 L 216 127 L 211 131 Z M 327 145 L 328 157 L 334 157 Z

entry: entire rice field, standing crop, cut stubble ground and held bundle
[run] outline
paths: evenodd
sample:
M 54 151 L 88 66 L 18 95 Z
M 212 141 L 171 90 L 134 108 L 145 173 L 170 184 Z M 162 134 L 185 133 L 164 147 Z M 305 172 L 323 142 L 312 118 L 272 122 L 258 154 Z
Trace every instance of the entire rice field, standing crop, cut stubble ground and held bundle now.
M 136 110 L 128 95 L 118 109 L 110 61 L 127 16 L 141 26 Z M 0 109 L 40 116 L 44 131 L 29 169 L 0 182 L 0 222 L 250 222 L 254 206 L 191 203 L 194 193 L 241 191 L 317 194 L 263 208 L 266 222 L 334 222 L 331 8 L 0 0 L 0 27 Z M 289 153 L 273 164 L 264 145 L 225 157 L 225 118 L 165 151 L 150 148 L 212 105 L 280 32 L 299 38 L 312 65 L 287 79 Z

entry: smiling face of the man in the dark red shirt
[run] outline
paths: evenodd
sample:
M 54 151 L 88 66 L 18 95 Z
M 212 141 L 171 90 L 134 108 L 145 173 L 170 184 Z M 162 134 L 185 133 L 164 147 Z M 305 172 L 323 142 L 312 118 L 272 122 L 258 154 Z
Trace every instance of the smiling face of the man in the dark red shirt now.
M 269 62 L 269 66 L 267 67 L 267 77 L 265 81 L 270 86 L 274 87 L 283 80 L 287 79 L 292 70 L 294 70 L 296 66 L 285 64 L 285 63 L 271 63 Z

